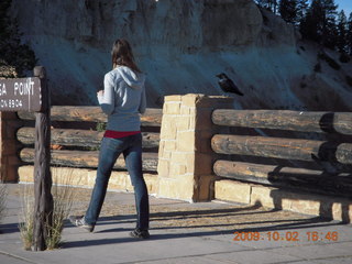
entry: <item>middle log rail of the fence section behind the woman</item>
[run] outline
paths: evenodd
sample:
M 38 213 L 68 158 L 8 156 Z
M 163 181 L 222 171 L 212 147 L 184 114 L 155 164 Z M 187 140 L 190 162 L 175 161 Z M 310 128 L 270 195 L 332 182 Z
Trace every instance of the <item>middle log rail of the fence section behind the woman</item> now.
M 21 128 L 18 130 L 18 140 L 23 144 L 34 144 L 34 128 Z M 52 129 L 52 141 L 54 145 L 98 147 L 103 132 L 92 130 Z M 160 134 L 142 132 L 143 147 L 158 147 Z

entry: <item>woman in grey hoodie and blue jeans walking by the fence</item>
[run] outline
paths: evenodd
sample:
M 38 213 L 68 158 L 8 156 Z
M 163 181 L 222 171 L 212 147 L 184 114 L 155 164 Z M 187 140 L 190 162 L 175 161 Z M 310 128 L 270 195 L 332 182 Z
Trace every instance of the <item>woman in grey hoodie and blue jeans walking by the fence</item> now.
M 145 76 L 134 63 L 131 45 L 117 40 L 111 51 L 112 70 L 106 74 L 105 89 L 98 91 L 99 105 L 108 114 L 101 141 L 97 178 L 84 217 L 69 217 L 72 223 L 92 232 L 98 220 L 112 167 L 122 153 L 134 187 L 136 228 L 133 238 L 147 239 L 148 195 L 142 174 L 142 135 L 140 113 L 145 112 Z

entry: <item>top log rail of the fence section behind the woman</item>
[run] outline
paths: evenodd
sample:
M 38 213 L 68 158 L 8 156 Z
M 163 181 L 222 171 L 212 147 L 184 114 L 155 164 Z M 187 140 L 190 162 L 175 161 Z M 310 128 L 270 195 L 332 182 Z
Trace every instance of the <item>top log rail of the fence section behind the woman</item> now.
M 19 117 L 24 120 L 34 120 L 31 112 L 20 111 Z M 143 127 L 161 127 L 163 110 L 147 108 L 141 116 Z M 100 107 L 66 107 L 55 106 L 51 109 L 52 121 L 74 121 L 74 122 L 107 122 L 107 116 Z

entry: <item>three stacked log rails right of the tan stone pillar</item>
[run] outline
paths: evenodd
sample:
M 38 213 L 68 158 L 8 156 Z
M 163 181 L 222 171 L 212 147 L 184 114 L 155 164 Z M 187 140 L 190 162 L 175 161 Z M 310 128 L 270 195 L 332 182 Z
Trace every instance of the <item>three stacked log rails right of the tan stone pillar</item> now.
M 218 109 L 212 122 L 241 133 L 212 136 L 218 176 L 352 197 L 352 113 Z

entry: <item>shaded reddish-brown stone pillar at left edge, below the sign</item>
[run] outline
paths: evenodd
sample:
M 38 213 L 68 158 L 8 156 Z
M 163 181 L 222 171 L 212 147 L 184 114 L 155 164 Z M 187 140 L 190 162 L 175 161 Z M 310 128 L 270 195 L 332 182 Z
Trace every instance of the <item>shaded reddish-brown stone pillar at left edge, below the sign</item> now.
M 15 112 L 0 112 L 0 180 L 16 183 L 19 179 L 18 157 L 19 143 L 15 132 L 20 128 L 20 121 Z

